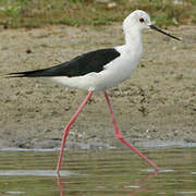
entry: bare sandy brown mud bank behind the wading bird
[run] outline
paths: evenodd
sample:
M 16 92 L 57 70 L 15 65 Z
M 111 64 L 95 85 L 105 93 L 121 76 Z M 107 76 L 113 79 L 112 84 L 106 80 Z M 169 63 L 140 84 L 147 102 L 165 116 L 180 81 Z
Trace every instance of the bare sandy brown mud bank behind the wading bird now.
M 109 90 L 122 134 L 132 143 L 196 142 L 196 26 L 168 30 L 183 41 L 146 32 L 138 69 L 131 79 Z M 49 79 L 4 78 L 4 74 L 48 68 L 123 41 L 121 24 L 96 28 L 1 28 L 0 146 L 59 147 L 63 127 L 86 96 L 86 91 Z M 69 140 L 121 147 L 102 94 L 93 96 Z

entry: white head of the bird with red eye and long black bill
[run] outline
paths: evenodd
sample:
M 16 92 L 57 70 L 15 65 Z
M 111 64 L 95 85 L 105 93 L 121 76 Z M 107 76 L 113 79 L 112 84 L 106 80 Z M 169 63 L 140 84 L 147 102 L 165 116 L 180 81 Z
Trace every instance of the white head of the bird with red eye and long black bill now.
M 170 35 L 163 30 L 161 30 L 160 28 L 158 28 L 157 26 L 152 25 L 151 21 L 150 21 L 150 16 L 142 11 L 142 10 L 136 10 L 134 12 L 132 12 L 123 22 L 123 30 L 125 34 L 131 33 L 132 30 L 144 30 L 144 29 L 155 29 L 157 32 L 160 32 L 169 37 L 172 37 L 176 40 L 181 40 L 180 38 Z

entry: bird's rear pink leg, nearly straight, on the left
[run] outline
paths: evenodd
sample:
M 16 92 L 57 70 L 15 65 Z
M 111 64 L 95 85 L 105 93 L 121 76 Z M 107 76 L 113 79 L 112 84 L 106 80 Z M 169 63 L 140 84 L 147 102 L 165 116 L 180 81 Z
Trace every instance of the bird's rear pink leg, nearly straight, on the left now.
M 59 160 L 58 160 L 58 166 L 57 166 L 57 173 L 59 174 L 59 171 L 61 169 L 61 162 L 62 162 L 62 156 L 63 156 L 63 150 L 64 150 L 64 145 L 65 145 L 65 140 L 69 134 L 69 131 L 72 126 L 72 124 L 75 122 L 75 120 L 77 119 L 78 114 L 81 113 L 81 111 L 83 110 L 83 108 L 85 107 L 87 100 L 91 97 L 94 91 L 89 91 L 88 95 L 86 96 L 85 100 L 83 101 L 83 103 L 79 106 L 79 108 L 77 109 L 77 111 L 74 113 L 74 115 L 72 117 L 71 121 L 68 123 L 66 127 L 64 128 L 64 134 L 63 134 L 63 138 L 62 138 L 62 145 L 61 145 L 61 151 L 59 155 Z

